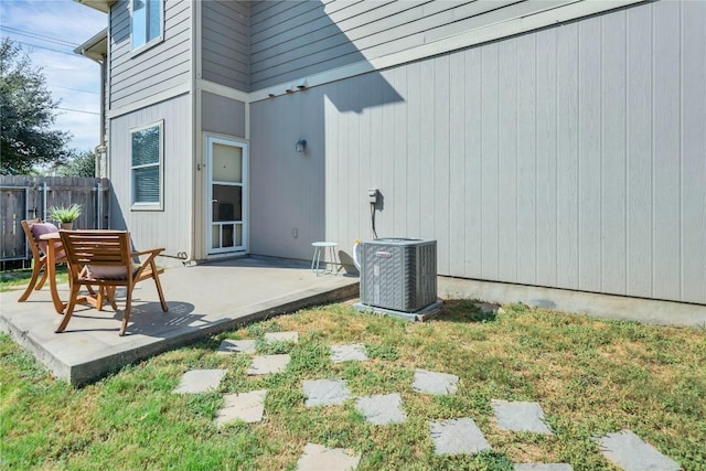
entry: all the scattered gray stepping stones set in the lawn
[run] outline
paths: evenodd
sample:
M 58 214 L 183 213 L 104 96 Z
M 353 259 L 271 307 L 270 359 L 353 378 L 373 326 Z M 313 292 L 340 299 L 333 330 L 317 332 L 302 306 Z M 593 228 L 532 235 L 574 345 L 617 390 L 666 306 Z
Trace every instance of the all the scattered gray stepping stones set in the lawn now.
M 298 343 L 299 334 L 297 332 L 266 333 L 264 341 Z M 218 347 L 218 354 L 253 355 L 248 368 L 249 375 L 274 374 L 287 368 L 291 360 L 289 355 L 256 355 L 256 345 L 255 340 L 224 340 Z M 333 363 L 366 360 L 367 354 L 362 344 L 331 346 Z M 188 371 L 174 393 L 199 394 L 215 390 L 225 375 L 225 370 Z M 458 390 L 458 382 L 459 377 L 453 374 L 417 370 L 411 387 L 419 394 L 448 395 Z M 345 381 L 338 378 L 308 379 L 302 383 L 302 389 L 307 407 L 339 405 L 353 398 Z M 265 389 L 225 395 L 224 405 L 215 418 L 216 425 L 222 426 L 233 420 L 243 420 L 248 424 L 261 421 L 266 397 Z M 492 399 L 491 406 L 495 424 L 501 429 L 514 432 L 554 433 L 545 421 L 542 406 L 537 403 Z M 355 397 L 355 408 L 368 422 L 377 426 L 402 424 L 407 419 L 402 395 L 398 392 Z M 429 420 L 428 428 L 436 454 L 472 454 L 492 450 L 482 430 L 471 417 Z M 595 441 L 606 459 L 625 471 L 678 471 L 682 469 L 674 460 L 662 454 L 630 430 L 597 437 Z M 296 469 L 299 471 L 351 470 L 356 469 L 360 461 L 361 454 L 354 450 L 307 443 Z M 516 463 L 514 469 L 515 471 L 573 470 L 568 463 Z

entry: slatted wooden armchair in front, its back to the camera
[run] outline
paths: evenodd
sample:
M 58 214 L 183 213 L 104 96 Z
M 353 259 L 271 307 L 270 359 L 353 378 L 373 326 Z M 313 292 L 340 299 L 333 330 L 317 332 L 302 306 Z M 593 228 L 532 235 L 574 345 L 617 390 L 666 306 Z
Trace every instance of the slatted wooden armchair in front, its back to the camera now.
M 164 312 L 169 310 L 159 281 L 159 275 L 163 274 L 164 269 L 157 268 L 154 264 L 154 258 L 164 250 L 163 248 L 132 251 L 130 249 L 130 233 L 127 231 L 60 231 L 60 234 L 68 261 L 71 295 L 64 318 L 56 328 L 57 333 L 66 329 L 76 303 L 79 302 L 78 290 L 82 286 L 97 287 L 98 306 L 103 304 L 105 297 L 116 310 L 116 288 L 126 288 L 126 304 L 120 335 L 125 335 L 125 330 L 128 327 L 132 289 L 138 282 L 147 279 L 154 280 L 162 310 Z M 135 265 L 132 260 L 141 256 L 147 256 L 147 258 L 141 264 Z

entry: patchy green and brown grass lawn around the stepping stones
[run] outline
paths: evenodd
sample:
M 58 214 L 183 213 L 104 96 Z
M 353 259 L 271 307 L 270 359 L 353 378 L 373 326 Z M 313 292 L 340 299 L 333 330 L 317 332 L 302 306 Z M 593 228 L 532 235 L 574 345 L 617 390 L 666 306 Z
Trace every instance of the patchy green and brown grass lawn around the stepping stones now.
M 248 377 L 223 339 L 298 331 L 285 373 Z M 333 364 L 330 346 L 363 343 L 371 360 Z M 591 437 L 631 429 L 685 470 L 706 469 L 706 331 L 601 321 L 522 304 L 483 314 L 449 301 L 425 323 L 310 309 L 224 333 L 74 389 L 0 336 L 0 469 L 293 469 L 307 442 L 352 448 L 361 470 L 511 470 L 512 462 L 614 469 Z M 176 395 L 190 368 L 227 368 L 218 392 Z M 416 368 L 453 373 L 451 396 L 415 393 Z M 373 426 L 342 406 L 304 407 L 302 381 L 343 378 L 354 396 L 399 392 L 407 421 Z M 265 419 L 223 428 L 223 394 L 266 388 Z M 541 403 L 554 436 L 500 430 L 491 399 Z M 436 457 L 428 420 L 471 417 L 492 453 Z

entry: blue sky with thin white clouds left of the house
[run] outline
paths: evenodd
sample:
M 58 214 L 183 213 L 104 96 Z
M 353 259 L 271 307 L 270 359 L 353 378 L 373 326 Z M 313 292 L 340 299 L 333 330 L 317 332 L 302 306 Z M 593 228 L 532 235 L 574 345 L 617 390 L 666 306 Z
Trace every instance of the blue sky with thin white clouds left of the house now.
M 74 137 L 69 147 L 93 150 L 99 141 L 100 67 L 73 53 L 107 26 L 107 15 L 73 0 L 1 0 L 0 35 L 21 43 L 47 88 L 61 100 L 55 127 Z

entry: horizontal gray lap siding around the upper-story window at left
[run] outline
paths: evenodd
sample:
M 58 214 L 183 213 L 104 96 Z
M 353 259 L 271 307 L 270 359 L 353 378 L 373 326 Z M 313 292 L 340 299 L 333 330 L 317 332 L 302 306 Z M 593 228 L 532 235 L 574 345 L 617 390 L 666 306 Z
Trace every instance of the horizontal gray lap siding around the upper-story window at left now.
M 189 83 L 191 77 L 191 7 L 188 0 L 165 2 L 164 39 L 133 54 L 129 1 L 110 13 L 110 108 L 120 108 Z

